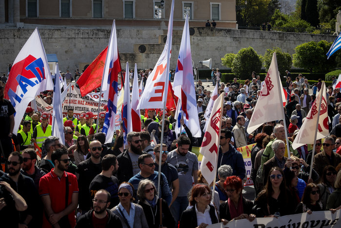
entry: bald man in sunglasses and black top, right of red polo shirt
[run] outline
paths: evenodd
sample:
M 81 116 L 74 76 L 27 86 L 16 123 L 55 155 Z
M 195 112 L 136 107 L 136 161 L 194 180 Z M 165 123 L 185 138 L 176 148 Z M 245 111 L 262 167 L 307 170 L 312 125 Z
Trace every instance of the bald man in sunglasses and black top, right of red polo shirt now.
M 77 173 L 79 174 L 78 201 L 79 209 L 82 211 L 82 214 L 84 214 L 91 208 L 89 193 L 90 183 L 95 178 L 95 176 L 102 171 L 101 165 L 102 144 L 97 140 L 92 141 L 89 145 L 89 152 L 91 154 L 91 157 L 79 163 L 77 166 Z

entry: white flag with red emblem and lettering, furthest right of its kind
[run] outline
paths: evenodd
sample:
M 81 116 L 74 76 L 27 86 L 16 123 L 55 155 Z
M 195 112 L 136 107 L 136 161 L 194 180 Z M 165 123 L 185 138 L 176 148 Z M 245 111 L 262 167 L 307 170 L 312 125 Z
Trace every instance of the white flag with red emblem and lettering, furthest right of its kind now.
M 322 102 L 320 104 L 320 97 L 322 96 Z M 325 90 L 325 84 L 322 82 L 322 86 L 320 92 L 318 93 L 311 109 L 308 112 L 308 115 L 303 122 L 299 133 L 297 134 L 294 142 L 292 143 L 292 148 L 296 149 L 305 144 L 314 144 L 315 143 L 315 131 L 316 126 L 318 126 L 318 131 L 316 135 L 316 140 L 322 139 L 329 134 L 329 126 L 328 126 L 328 111 L 327 111 L 327 96 Z M 320 118 L 318 122 L 318 111 L 320 109 Z

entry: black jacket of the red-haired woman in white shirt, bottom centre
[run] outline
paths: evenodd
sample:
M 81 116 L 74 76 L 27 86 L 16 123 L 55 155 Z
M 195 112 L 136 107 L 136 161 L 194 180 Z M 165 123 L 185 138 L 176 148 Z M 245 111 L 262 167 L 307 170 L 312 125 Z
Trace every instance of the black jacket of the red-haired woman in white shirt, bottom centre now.
M 211 217 L 212 224 L 218 223 L 218 218 L 215 216 L 215 207 L 212 205 L 209 205 L 209 215 Z M 196 228 L 199 225 L 197 223 L 195 206 L 182 212 L 179 228 Z

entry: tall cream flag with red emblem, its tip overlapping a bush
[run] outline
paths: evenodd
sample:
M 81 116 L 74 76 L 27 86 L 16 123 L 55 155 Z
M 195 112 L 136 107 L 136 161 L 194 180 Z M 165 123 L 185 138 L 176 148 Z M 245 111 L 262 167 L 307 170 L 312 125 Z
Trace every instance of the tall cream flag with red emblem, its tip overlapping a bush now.
M 283 89 L 281 88 L 281 80 L 278 73 L 276 52 L 274 52 L 261 94 L 252 113 L 250 123 L 247 126 L 247 133 L 250 134 L 265 122 L 283 120 L 285 118 L 282 94 Z

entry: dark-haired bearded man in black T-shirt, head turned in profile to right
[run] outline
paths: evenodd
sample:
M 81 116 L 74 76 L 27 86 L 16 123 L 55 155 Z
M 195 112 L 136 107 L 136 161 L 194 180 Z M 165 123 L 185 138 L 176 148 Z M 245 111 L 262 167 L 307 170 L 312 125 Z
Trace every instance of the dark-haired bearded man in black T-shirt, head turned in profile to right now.
M 118 169 L 117 158 L 113 154 L 107 154 L 102 159 L 102 172 L 95 176 L 94 180 L 91 182 L 90 198 L 94 199 L 96 192 L 99 189 L 105 189 L 111 195 L 109 209 L 115 207 L 119 203 L 118 192 L 118 179 L 113 176 L 116 174 Z

